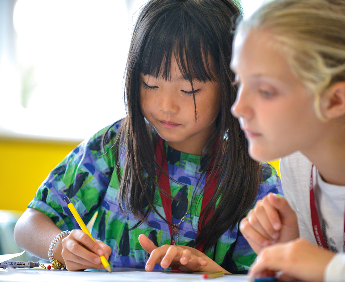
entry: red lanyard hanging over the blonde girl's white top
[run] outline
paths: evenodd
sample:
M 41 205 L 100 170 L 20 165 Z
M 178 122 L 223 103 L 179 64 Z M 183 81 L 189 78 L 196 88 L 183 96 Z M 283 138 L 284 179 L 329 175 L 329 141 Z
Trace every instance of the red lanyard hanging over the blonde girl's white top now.
M 320 226 L 319 216 L 317 214 L 316 203 L 315 203 L 315 194 L 314 194 L 314 183 L 313 183 L 313 168 L 314 164 L 312 165 L 312 173 L 310 176 L 310 211 L 312 214 L 312 224 L 313 224 L 313 231 L 314 236 L 316 239 L 317 244 L 322 249 L 327 249 L 327 244 L 322 234 L 322 229 Z M 344 223 L 344 234 L 345 234 L 345 223 Z M 345 245 L 345 238 L 344 238 L 344 245 Z

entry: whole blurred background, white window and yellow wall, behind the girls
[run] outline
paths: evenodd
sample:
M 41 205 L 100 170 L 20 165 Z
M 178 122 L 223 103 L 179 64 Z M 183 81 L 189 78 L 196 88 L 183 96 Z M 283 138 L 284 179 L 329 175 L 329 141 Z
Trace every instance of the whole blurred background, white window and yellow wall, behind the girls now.
M 125 116 L 127 52 L 146 1 L 0 0 L 0 238 L 12 236 L 0 254 L 17 251 L 13 226 L 48 173 Z M 262 1 L 242 0 L 245 17 Z

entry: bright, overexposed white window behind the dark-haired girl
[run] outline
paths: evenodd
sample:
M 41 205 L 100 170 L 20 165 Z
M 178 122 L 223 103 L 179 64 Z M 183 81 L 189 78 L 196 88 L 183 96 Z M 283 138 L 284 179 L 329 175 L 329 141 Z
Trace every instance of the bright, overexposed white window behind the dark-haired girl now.
M 0 135 L 84 139 L 124 117 L 132 25 L 146 1 L 0 1 Z M 260 4 L 242 2 L 246 14 Z

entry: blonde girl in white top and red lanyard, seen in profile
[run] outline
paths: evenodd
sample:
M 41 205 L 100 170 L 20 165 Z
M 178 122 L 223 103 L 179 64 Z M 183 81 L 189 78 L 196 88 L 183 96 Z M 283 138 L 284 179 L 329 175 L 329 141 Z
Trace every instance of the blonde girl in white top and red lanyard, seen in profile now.
M 282 158 L 286 200 L 268 195 L 240 230 L 251 275 L 345 281 L 345 2 L 268 1 L 236 31 L 232 107 L 256 160 Z

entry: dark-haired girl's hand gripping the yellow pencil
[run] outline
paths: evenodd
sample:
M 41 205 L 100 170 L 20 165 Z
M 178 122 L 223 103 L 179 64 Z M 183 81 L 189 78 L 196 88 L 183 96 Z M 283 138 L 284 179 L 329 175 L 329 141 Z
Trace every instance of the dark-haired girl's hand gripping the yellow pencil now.
M 69 235 L 61 239 L 63 261 L 68 270 L 81 270 L 86 268 L 104 269 L 100 256 L 108 260 L 111 254 L 110 246 L 102 241 L 93 240 L 81 230 L 72 230 Z

